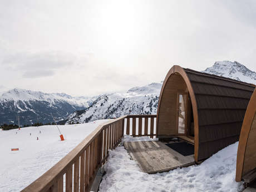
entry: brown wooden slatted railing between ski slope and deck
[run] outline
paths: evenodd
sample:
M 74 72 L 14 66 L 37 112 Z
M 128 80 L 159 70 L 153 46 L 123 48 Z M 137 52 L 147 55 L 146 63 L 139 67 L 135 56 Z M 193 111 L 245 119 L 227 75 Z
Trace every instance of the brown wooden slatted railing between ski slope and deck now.
M 156 135 L 156 115 L 128 115 L 98 126 L 40 178 L 22 192 L 84 192 L 89 191 L 97 170 L 120 144 L 124 132 L 131 136 Z

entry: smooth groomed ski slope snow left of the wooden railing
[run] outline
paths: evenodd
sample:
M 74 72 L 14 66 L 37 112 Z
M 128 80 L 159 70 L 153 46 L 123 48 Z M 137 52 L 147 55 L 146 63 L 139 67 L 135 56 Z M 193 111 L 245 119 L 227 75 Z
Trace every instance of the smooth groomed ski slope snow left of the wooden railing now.
M 106 121 L 58 125 L 65 141 L 60 141 L 54 125 L 0 131 L 0 192 L 21 191 Z M 19 148 L 19 151 L 11 151 L 11 148 Z

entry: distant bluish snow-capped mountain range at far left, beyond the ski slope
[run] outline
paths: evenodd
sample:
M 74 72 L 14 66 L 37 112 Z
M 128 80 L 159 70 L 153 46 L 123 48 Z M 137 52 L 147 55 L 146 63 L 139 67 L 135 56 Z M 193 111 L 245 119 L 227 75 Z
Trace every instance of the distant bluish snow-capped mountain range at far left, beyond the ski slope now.
M 92 97 L 72 97 L 66 93 L 43 93 L 14 88 L 0 97 L 0 125 L 21 125 L 35 122 L 52 122 L 51 113 L 56 120 L 66 119 L 73 111 L 86 109 Z

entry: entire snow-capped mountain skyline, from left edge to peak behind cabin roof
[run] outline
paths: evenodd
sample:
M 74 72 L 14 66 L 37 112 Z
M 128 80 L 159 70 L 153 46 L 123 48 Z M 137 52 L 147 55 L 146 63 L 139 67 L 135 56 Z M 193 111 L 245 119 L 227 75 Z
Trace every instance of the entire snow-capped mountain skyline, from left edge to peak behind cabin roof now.
M 234 61 L 218 61 L 205 73 L 256 84 L 256 73 Z M 52 122 L 76 124 L 128 114 L 156 114 L 163 82 L 133 87 L 125 93 L 107 93 L 94 97 L 72 97 L 66 93 L 43 93 L 14 88 L 0 97 L 0 125 Z M 62 121 L 61 121 L 62 120 Z

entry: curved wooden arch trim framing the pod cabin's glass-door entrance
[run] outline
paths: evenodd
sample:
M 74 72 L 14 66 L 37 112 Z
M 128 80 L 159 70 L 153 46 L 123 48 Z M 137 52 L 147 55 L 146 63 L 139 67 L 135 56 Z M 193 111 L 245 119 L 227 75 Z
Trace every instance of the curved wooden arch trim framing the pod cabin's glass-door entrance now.
M 198 150 L 199 150 L 199 124 L 198 124 L 198 106 L 196 104 L 196 99 L 195 99 L 195 93 L 193 90 L 193 87 L 191 85 L 191 82 L 189 80 L 188 75 L 186 75 L 186 72 L 184 69 L 178 65 L 174 65 L 171 67 L 169 72 L 167 73 L 163 86 L 161 88 L 160 96 L 159 96 L 159 101 L 158 101 L 158 106 L 157 106 L 157 117 L 156 117 L 156 137 L 158 136 L 158 124 L 159 124 L 159 110 L 160 110 L 160 105 L 161 105 L 161 98 L 164 93 L 165 85 L 168 82 L 169 78 L 171 75 L 174 73 L 179 73 L 181 77 L 183 77 L 183 80 L 186 83 L 186 86 L 188 87 L 190 99 L 191 99 L 191 104 L 192 104 L 192 109 L 193 109 L 193 115 L 194 115 L 194 130 L 195 130 L 195 137 L 194 137 L 194 147 L 195 147 L 195 161 L 198 162 Z

